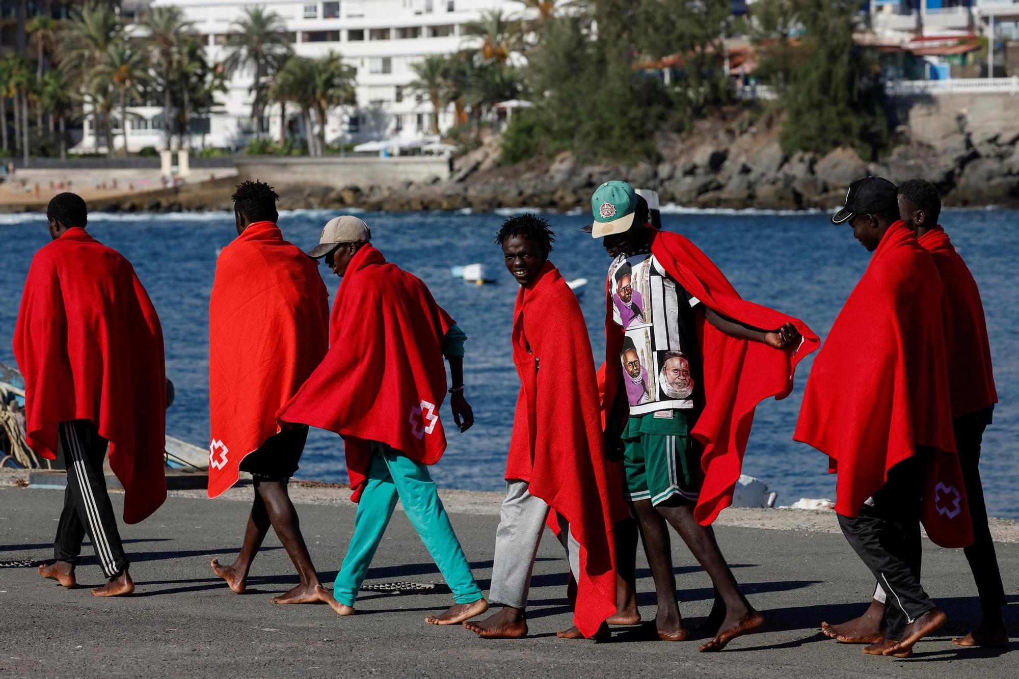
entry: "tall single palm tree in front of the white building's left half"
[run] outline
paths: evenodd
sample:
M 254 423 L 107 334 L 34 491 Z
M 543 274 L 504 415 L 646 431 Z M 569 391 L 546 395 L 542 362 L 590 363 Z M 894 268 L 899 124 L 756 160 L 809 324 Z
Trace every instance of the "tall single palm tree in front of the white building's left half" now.
M 226 68 L 233 72 L 236 68 L 251 65 L 255 70 L 255 79 L 251 91 L 255 95 L 252 102 L 252 121 L 257 125 L 257 134 L 262 134 L 264 126 L 263 111 L 265 108 L 268 79 L 274 69 L 282 67 L 284 57 L 290 52 L 286 37 L 286 24 L 279 14 L 267 10 L 261 5 L 245 7 L 243 16 L 232 24 L 231 33 L 226 41 L 230 51 L 226 59 Z

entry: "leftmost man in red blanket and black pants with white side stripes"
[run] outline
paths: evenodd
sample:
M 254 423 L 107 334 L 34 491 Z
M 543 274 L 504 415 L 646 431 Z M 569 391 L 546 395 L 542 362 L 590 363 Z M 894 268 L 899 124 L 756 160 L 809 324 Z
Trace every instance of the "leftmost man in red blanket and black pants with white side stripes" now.
M 67 466 L 56 563 L 39 572 L 74 586 L 88 532 L 109 578 L 92 593 L 127 594 L 135 585 L 103 460 L 109 447 L 125 522 L 142 521 L 166 500 L 163 332 L 130 263 L 85 231 L 81 197 L 55 196 L 47 218 L 53 242 L 32 260 L 14 328 L 29 446 L 50 460 L 59 453 Z

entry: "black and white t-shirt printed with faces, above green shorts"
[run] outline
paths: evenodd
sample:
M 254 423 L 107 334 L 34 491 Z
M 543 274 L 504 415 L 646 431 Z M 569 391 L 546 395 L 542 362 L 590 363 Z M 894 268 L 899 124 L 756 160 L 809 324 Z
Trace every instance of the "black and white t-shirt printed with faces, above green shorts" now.
M 702 366 L 694 308 L 700 301 L 651 254 L 620 255 L 608 280 L 612 320 L 626 334 L 620 360 L 631 417 L 698 408 Z

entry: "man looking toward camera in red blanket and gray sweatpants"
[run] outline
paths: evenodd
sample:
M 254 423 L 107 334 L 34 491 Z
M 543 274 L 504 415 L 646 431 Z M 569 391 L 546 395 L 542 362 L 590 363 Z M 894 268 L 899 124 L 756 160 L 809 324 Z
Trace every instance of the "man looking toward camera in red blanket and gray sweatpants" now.
M 521 284 L 513 328 L 521 387 L 488 596 L 502 610 L 465 623 L 485 638 L 527 634 L 531 571 L 549 512 L 578 585 L 575 630 L 559 636 L 605 637 L 605 621 L 615 613 L 612 531 L 628 512 L 608 483 L 587 323 L 548 261 L 554 238 L 533 214 L 507 220 L 495 237 Z

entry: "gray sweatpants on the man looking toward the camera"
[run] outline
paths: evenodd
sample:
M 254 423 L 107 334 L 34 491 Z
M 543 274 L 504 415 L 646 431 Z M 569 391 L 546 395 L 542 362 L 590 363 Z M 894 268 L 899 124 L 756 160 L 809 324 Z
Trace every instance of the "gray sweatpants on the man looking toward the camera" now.
M 515 609 L 527 608 L 531 572 L 548 518 L 548 505 L 531 494 L 527 481 L 506 481 L 506 499 L 499 512 L 495 531 L 495 560 L 488 600 Z M 560 541 L 565 540 L 570 570 L 580 579 L 580 542 L 570 532 L 570 524 L 559 517 Z

